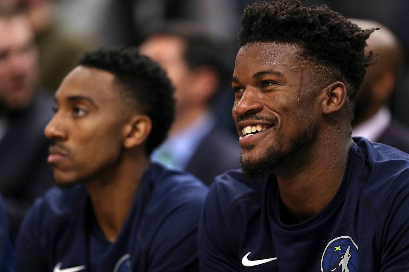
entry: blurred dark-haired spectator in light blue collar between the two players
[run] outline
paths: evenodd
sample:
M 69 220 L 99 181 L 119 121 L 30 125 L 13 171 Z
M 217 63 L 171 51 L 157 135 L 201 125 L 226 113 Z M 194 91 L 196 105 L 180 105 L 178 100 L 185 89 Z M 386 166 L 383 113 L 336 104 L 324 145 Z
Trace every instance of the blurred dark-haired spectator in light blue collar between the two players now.
M 142 54 L 160 63 L 175 86 L 176 116 L 168 139 L 152 155 L 170 167 L 186 169 L 208 185 L 238 166 L 237 139 L 210 109 L 211 98 L 228 78 L 220 44 L 199 27 L 167 23 L 142 43 Z M 229 76 L 227 76 L 229 74 Z

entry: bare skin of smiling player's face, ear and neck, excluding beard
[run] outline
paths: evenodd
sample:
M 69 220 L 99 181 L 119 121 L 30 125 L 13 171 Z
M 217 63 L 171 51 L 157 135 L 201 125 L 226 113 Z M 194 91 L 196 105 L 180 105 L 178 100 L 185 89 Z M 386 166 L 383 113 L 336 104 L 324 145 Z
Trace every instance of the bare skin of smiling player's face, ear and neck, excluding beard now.
M 320 78 L 312 62 L 300 61 L 300 50 L 292 44 L 245 45 L 237 54 L 232 77 L 236 95 L 232 115 L 243 162 L 263 159 L 266 147 L 289 153 L 301 132 L 314 132 L 308 146 L 270 169 L 277 176 L 285 208 L 298 222 L 333 199 L 353 145 L 345 85 Z M 257 124 L 268 129 L 243 137 L 243 127 Z

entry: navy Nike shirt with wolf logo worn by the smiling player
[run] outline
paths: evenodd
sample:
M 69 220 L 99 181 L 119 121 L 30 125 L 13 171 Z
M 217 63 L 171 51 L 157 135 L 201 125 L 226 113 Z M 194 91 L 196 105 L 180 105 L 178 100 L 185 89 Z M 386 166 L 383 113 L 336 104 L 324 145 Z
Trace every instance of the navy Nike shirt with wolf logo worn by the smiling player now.
M 354 141 L 337 194 L 302 223 L 282 223 L 275 176 L 218 176 L 199 224 L 201 270 L 409 271 L 409 154 Z

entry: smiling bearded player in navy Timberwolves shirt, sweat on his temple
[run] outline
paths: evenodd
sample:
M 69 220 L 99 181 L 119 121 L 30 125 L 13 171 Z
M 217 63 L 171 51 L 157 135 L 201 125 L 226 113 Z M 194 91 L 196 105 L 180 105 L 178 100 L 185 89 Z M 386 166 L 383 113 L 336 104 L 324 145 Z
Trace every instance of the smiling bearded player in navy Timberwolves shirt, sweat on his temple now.
M 207 196 L 203 271 L 409 270 L 409 155 L 351 138 L 375 30 L 298 0 L 245 9 L 231 77 L 241 171 Z

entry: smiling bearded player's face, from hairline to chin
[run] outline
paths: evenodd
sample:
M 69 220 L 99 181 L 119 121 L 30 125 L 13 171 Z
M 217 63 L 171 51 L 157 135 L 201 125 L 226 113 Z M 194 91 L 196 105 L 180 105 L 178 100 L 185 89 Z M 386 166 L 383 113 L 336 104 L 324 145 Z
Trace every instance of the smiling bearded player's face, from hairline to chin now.
M 263 176 L 288 162 L 314 140 L 319 118 L 317 85 L 299 47 L 258 42 L 241 47 L 231 85 L 233 118 L 249 177 Z M 304 64 L 302 64 L 304 63 Z

